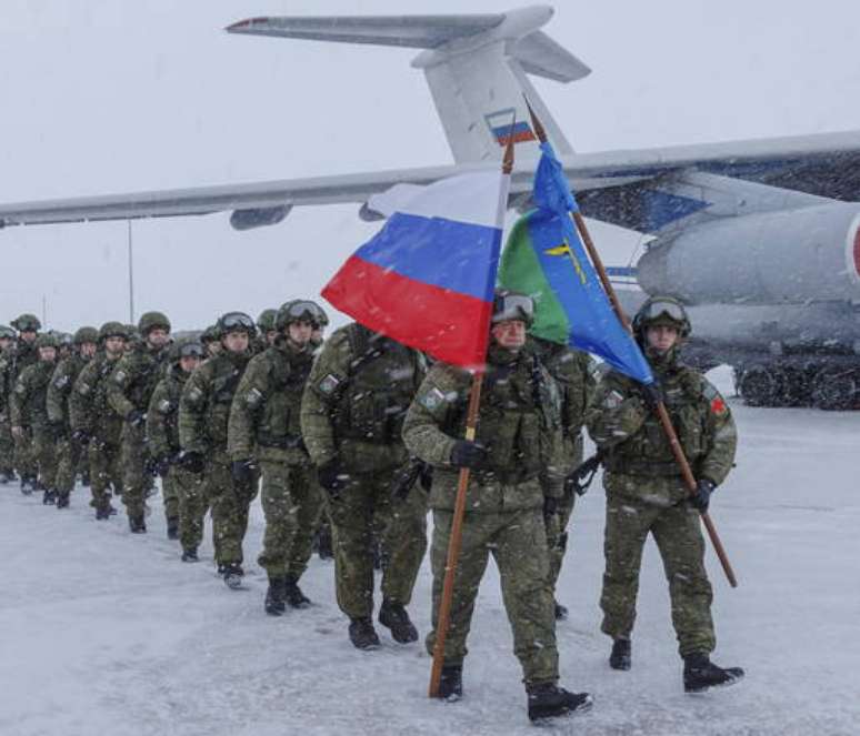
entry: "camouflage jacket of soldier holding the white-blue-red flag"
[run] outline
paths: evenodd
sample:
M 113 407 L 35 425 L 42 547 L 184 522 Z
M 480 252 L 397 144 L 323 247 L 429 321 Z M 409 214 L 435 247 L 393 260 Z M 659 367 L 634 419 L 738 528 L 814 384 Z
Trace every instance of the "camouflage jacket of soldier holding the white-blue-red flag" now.
M 430 506 L 452 510 L 459 468 L 451 450 L 466 434 L 471 376 L 437 363 L 409 407 L 403 438 L 409 452 L 434 467 Z M 542 505 L 562 495 L 561 397 L 549 372 L 529 351 L 488 352 L 476 441 L 487 447 L 487 467 L 472 471 L 467 508 L 499 513 Z

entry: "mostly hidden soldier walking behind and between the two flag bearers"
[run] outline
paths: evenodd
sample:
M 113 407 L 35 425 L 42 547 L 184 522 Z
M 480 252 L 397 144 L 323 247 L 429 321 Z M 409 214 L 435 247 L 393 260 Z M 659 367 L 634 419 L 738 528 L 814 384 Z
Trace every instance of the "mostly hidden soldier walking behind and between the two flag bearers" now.
M 586 421 L 591 395 L 594 392 L 592 361 L 588 353 L 560 345 L 549 340 L 531 336 L 527 347 L 534 352 L 539 362 L 556 381 L 561 396 L 561 454 L 556 467 L 568 476 L 582 464 L 582 425 Z M 564 488 L 558 500 L 554 514 L 547 516 L 547 544 L 549 545 L 550 585 L 553 598 L 561 563 L 568 548 L 568 524 L 573 513 L 576 495 L 572 488 Z M 550 502 L 551 503 L 551 502 Z M 554 601 L 556 621 L 568 617 L 568 609 Z

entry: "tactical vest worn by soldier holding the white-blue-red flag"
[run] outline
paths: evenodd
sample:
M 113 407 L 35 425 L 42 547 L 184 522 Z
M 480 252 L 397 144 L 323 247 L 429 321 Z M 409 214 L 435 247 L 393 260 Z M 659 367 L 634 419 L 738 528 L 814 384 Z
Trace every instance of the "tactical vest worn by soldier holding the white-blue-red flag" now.
M 488 468 L 480 480 L 523 483 L 553 460 L 561 429 L 561 399 L 556 382 L 534 355 L 520 353 L 509 364 L 488 363 L 481 389 L 477 442 L 489 452 Z M 446 434 L 462 437 L 467 403 L 451 413 Z

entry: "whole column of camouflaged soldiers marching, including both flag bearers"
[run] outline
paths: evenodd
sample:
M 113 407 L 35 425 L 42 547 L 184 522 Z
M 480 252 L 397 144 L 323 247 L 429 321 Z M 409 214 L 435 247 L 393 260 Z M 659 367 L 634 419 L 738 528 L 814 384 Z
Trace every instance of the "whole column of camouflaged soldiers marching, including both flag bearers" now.
M 463 694 L 463 663 L 489 557 L 523 673 L 529 717 L 542 720 L 591 706 L 587 693 L 559 686 L 556 597 L 568 547 L 582 429 L 606 472 L 606 573 L 600 605 L 611 637 L 609 664 L 632 666 L 631 635 L 642 547 L 649 533 L 663 558 L 672 624 L 687 692 L 731 684 L 737 667 L 710 661 L 716 646 L 712 592 L 703 566 L 698 512 L 731 468 L 737 435 L 716 389 L 680 360 L 690 334 L 683 306 L 649 300 L 636 339 L 662 387 L 699 485 L 687 494 L 653 414 L 653 393 L 588 355 L 528 334 L 531 299 L 497 292 L 474 440 L 466 440 L 470 376 L 428 365 L 421 353 L 351 323 L 323 342 L 324 311 L 309 300 L 266 310 L 254 321 L 228 312 L 199 339 L 171 343 L 170 321 L 148 312 L 134 329 L 81 327 L 56 363 L 60 341 L 21 315 L 0 326 L 0 482 L 63 508 L 81 460 L 97 520 L 126 506 L 129 527 L 146 533 L 147 497 L 161 477 L 168 536 L 184 562 L 199 559 L 207 512 L 220 575 L 242 586 L 248 513 L 261 486 L 266 516 L 258 564 L 268 575 L 267 614 L 304 608 L 299 586 L 314 535 L 330 527 L 337 603 L 360 649 L 380 639 L 416 642 L 408 613 L 430 547 L 432 654 L 454 496 L 469 468 L 462 551 L 443 646 L 440 697 Z M 374 552 L 382 599 L 373 601 Z

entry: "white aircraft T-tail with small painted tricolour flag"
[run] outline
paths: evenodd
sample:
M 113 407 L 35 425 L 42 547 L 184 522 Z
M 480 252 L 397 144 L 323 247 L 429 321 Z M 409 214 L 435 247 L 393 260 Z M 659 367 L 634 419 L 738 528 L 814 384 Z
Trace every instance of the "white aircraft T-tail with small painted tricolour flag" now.
M 422 49 L 412 65 L 424 71 L 454 161 L 474 163 L 501 160 L 511 134 L 519 144 L 537 145 L 523 95 L 556 151 L 572 152 L 529 80 L 533 74 L 571 82 L 591 71 L 538 30 L 552 12 L 534 6 L 471 16 L 252 18 L 227 30 Z

